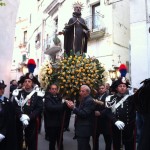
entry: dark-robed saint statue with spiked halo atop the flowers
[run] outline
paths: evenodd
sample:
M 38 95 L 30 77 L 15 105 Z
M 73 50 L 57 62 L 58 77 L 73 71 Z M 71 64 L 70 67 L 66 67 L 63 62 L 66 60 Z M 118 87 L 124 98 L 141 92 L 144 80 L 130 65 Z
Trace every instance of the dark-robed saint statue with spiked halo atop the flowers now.
M 60 34 L 64 34 L 64 52 L 69 56 L 72 50 L 74 54 L 87 52 L 87 42 L 90 36 L 90 30 L 81 18 L 83 4 L 76 2 L 73 4 L 74 12 L 68 24 Z

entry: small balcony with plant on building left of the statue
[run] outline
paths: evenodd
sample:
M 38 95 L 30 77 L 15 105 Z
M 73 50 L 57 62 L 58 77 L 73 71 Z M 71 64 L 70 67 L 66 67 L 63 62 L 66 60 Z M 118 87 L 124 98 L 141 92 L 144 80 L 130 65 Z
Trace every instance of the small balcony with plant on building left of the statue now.
M 61 50 L 61 41 L 57 37 L 57 35 L 54 34 L 45 41 L 44 47 L 45 47 L 44 52 L 45 54 L 54 55 Z

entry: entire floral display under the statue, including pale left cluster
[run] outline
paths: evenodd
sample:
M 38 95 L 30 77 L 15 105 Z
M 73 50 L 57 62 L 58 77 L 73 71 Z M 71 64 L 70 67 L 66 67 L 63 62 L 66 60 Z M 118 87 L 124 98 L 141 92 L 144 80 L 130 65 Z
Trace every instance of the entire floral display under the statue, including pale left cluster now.
M 86 58 L 85 55 L 64 57 L 57 63 L 44 62 L 39 71 L 41 87 L 57 83 L 60 94 L 70 98 L 76 97 L 81 85 L 88 85 L 92 91 L 106 79 L 105 69 L 98 59 Z

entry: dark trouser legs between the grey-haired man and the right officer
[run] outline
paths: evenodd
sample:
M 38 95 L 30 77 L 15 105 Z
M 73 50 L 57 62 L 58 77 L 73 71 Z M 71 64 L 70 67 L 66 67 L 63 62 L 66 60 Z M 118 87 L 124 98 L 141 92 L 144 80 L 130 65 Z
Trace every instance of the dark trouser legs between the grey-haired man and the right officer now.
M 102 134 L 102 135 L 105 141 L 105 150 L 111 150 L 111 143 L 112 143 L 111 135 L 110 134 Z M 93 150 L 99 150 L 99 137 L 100 133 L 97 133 L 95 139 L 93 138 Z

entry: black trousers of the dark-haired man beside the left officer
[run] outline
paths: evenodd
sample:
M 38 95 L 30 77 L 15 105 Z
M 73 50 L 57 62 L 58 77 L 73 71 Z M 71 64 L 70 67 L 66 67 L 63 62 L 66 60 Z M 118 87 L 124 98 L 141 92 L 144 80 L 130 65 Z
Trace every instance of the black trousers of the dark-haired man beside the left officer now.
M 49 137 L 49 150 L 55 150 L 56 143 L 58 150 L 63 150 L 63 135 L 60 141 L 60 134 L 61 134 L 61 127 L 47 128 L 47 135 Z

